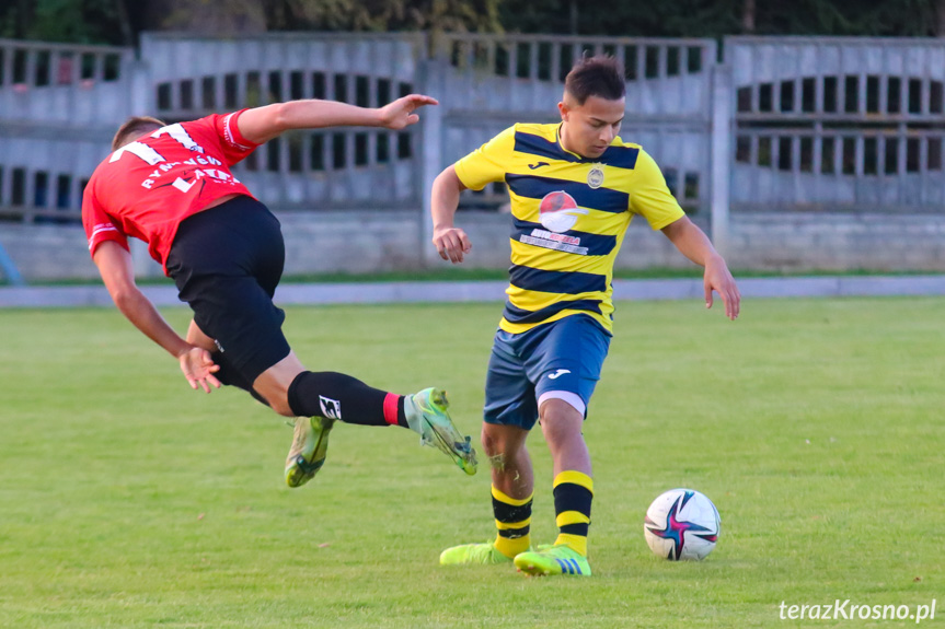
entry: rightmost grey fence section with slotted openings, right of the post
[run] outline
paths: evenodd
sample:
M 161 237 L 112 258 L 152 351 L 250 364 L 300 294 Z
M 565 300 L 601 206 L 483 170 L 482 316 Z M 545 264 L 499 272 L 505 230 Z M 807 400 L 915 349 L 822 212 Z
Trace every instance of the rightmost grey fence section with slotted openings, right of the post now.
M 941 39 L 733 37 L 733 209 L 941 211 Z

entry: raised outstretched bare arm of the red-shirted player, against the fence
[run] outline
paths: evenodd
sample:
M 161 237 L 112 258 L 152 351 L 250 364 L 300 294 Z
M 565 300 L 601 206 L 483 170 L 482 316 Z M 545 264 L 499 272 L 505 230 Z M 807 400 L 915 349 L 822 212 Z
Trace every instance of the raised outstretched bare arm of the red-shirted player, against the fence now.
M 238 126 L 243 137 L 262 144 L 291 129 L 324 127 L 385 127 L 403 129 L 419 120 L 414 112 L 437 100 L 410 94 L 378 108 L 358 107 L 334 101 L 289 101 L 246 109 Z

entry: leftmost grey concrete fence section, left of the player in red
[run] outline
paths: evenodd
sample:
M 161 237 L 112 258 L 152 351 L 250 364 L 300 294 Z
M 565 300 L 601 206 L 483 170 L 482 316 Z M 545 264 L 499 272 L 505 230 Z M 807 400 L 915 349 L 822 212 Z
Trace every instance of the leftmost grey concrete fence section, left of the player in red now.
M 0 39 L 0 212 L 74 216 L 131 109 L 134 51 Z

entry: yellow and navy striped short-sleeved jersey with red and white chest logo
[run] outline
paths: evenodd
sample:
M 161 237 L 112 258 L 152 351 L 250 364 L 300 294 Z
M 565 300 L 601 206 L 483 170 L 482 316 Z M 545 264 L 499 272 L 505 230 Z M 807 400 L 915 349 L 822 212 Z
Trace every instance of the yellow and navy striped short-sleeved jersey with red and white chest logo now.
M 499 327 L 510 333 L 578 313 L 612 330 L 613 263 L 633 214 L 654 230 L 684 216 L 638 144 L 615 138 L 589 160 L 562 148 L 558 129 L 518 124 L 456 163 L 468 188 L 508 185 L 511 267 Z

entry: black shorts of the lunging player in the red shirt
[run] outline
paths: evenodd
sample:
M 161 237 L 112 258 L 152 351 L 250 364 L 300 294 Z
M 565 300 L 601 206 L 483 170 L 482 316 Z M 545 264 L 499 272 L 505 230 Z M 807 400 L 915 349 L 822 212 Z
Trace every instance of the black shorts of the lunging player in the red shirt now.
M 168 255 L 168 272 L 194 321 L 216 339 L 217 360 L 252 384 L 289 354 L 286 314 L 273 295 L 286 261 L 279 221 L 251 197 L 237 197 L 185 219 Z

